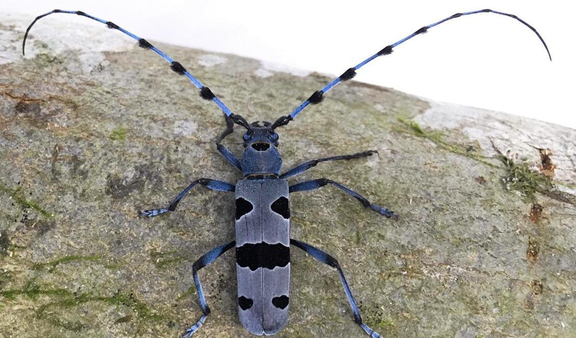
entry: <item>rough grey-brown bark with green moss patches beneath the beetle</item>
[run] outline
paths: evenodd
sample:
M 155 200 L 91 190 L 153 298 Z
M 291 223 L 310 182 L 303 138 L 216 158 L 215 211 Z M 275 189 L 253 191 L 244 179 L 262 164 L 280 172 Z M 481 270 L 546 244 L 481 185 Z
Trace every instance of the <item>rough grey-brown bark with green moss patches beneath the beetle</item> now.
M 192 262 L 233 240 L 233 194 L 199 187 L 176 212 L 137 211 L 197 178 L 241 178 L 216 151 L 221 112 L 103 25 L 43 20 L 22 57 L 30 19 L 0 16 L 0 335 L 179 336 L 201 314 Z M 157 46 L 249 121 L 275 120 L 330 79 Z M 291 197 L 292 236 L 339 259 L 376 331 L 576 336 L 575 130 L 351 81 L 278 131 L 285 169 L 380 152 L 291 180 L 330 178 L 400 215 L 329 186 Z M 226 145 L 240 156 L 241 130 Z M 292 252 L 278 336 L 363 337 L 336 271 Z M 233 252 L 200 276 L 212 314 L 197 336 L 248 337 Z

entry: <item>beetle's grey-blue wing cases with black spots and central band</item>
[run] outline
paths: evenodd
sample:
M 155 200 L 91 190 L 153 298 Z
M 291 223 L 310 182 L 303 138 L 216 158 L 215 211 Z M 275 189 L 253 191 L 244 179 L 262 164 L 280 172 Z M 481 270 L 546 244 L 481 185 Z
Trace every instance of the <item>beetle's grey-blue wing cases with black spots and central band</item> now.
M 288 320 L 288 190 L 286 180 L 278 178 L 236 183 L 238 315 L 242 326 L 255 335 L 274 335 Z

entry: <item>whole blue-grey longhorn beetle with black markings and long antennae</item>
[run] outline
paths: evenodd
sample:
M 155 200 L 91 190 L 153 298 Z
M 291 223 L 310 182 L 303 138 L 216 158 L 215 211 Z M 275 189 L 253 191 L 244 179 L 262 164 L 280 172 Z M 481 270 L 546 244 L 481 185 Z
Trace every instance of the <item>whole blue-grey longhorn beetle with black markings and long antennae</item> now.
M 28 29 L 26 29 L 24 41 L 22 43 L 22 53 L 24 53 L 26 37 L 28 36 L 28 32 L 32 28 L 32 25 L 34 25 L 40 18 L 52 13 L 77 14 L 79 16 L 102 22 L 107 25 L 108 28 L 118 29 L 120 32 L 127 34 L 138 41 L 139 47 L 150 49 L 160 55 L 164 60 L 168 61 L 170 63 L 170 68 L 173 71 L 177 74 L 185 75 L 196 87 L 198 87 L 200 97 L 216 103 L 225 114 L 226 130 L 216 141 L 217 149 L 218 152 L 228 160 L 228 162 L 238 170 L 242 171 L 244 179 L 239 180 L 236 185 L 232 185 L 220 180 L 200 178 L 184 189 L 174 199 L 174 201 L 170 203 L 168 208 L 145 210 L 140 213 L 141 216 L 154 217 L 173 211 L 176 209 L 180 200 L 196 185 L 202 185 L 211 190 L 230 191 L 234 192 L 236 195 L 236 240 L 207 252 L 207 254 L 196 260 L 192 267 L 194 283 L 196 285 L 196 290 L 198 290 L 198 298 L 203 314 L 198 322 L 192 325 L 192 327 L 185 332 L 184 338 L 188 338 L 198 331 L 210 313 L 210 308 L 206 304 L 202 285 L 200 284 L 200 278 L 198 277 L 198 270 L 214 262 L 214 260 L 220 255 L 233 247 L 236 247 L 238 315 L 240 316 L 242 326 L 254 335 L 274 335 L 280 331 L 286 325 L 288 319 L 288 305 L 290 299 L 290 245 L 294 245 L 295 247 L 304 250 L 320 262 L 328 264 L 338 270 L 340 281 L 342 281 L 344 287 L 344 292 L 346 293 L 350 307 L 354 312 L 354 321 L 370 337 L 381 337 L 362 321 L 357 303 L 354 300 L 348 283 L 346 282 L 346 278 L 344 278 L 342 268 L 340 268 L 338 261 L 324 251 L 321 251 L 319 248 L 290 238 L 289 194 L 297 191 L 315 190 L 329 184 L 352 195 L 354 198 L 358 199 L 363 206 L 380 213 L 382 216 L 395 218 L 396 220 L 398 216 L 389 209 L 370 203 L 366 198 L 362 197 L 354 190 L 330 179 L 321 178 L 307 180 L 294 185 L 289 185 L 286 180 L 287 178 L 301 174 L 320 162 L 358 159 L 370 156 L 377 152 L 370 150 L 355 153 L 353 155 L 333 156 L 311 160 L 281 174 L 280 168 L 282 166 L 282 158 L 277 148 L 279 136 L 278 133 L 276 133 L 276 128 L 288 124 L 306 106 L 320 103 L 327 91 L 331 90 L 332 87 L 340 82 L 354 78 L 356 71 L 366 63 L 376 59 L 378 56 L 389 55 L 392 53 L 392 49 L 397 45 L 412 39 L 412 37 L 415 37 L 418 34 L 426 33 L 428 29 L 442 24 L 442 22 L 461 16 L 468 16 L 477 13 L 495 13 L 514 18 L 528 26 L 528 28 L 532 29 L 532 31 L 536 33 L 541 43 L 544 44 L 544 48 L 546 48 L 546 51 L 548 52 L 548 57 L 552 60 L 546 43 L 536 29 L 513 14 L 502 13 L 501 11 L 490 9 L 456 13 L 453 16 L 434 22 L 431 25 L 419 28 L 416 32 L 407 37 L 382 48 L 376 54 L 357 64 L 357 66 L 348 68 L 348 70 L 338 76 L 338 78 L 332 80 L 332 82 L 328 83 L 323 89 L 315 91 L 289 115 L 279 117 L 274 123 L 263 122 L 261 125 L 256 121 L 249 124 L 244 117 L 232 113 L 208 87 L 204 86 L 198 79 L 185 70 L 179 62 L 173 60 L 164 52 L 160 51 L 160 49 L 111 21 L 90 16 L 82 11 L 55 9 L 36 17 L 32 24 L 28 26 Z M 245 149 L 241 160 L 238 160 L 232 152 L 221 144 L 222 140 L 233 132 L 234 124 L 238 124 L 246 129 L 246 133 L 242 136 Z

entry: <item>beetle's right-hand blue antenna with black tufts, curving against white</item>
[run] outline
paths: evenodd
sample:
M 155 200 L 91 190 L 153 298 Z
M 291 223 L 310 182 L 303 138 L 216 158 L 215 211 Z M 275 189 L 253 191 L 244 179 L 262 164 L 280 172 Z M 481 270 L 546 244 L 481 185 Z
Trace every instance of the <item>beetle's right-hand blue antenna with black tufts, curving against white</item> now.
M 544 45 L 544 48 L 546 49 L 546 52 L 548 53 L 548 57 L 550 58 L 550 61 L 552 61 L 552 56 L 550 55 L 550 51 L 548 50 L 548 46 L 546 45 L 546 43 L 544 42 L 544 39 L 542 39 L 542 37 L 540 36 L 540 33 L 537 32 L 537 30 L 530 26 L 528 24 L 528 22 L 522 20 L 521 18 L 515 16 L 514 14 L 508 14 L 508 13 L 503 13 L 501 11 L 495 11 L 495 10 L 491 10 L 491 9 L 482 9 L 482 10 L 475 10 L 475 11 L 467 11 L 464 13 L 456 13 L 453 16 L 449 16 L 447 18 L 444 18 L 440 21 L 434 22 L 431 25 L 428 26 L 423 26 L 422 28 L 419 28 L 418 30 L 416 30 L 416 32 L 408 35 L 407 37 L 404 37 L 401 40 L 396 41 L 395 43 L 391 44 L 391 45 L 387 45 L 386 47 L 382 48 L 380 51 L 378 51 L 376 54 L 368 57 L 366 60 L 363 60 L 361 63 L 357 64 L 356 66 L 352 67 L 352 68 L 348 68 L 345 72 L 342 73 L 342 75 L 338 76 L 338 78 L 335 78 L 334 80 L 332 80 L 332 82 L 328 83 L 323 89 L 314 91 L 314 93 L 308 98 L 306 99 L 306 101 L 302 102 L 300 106 L 298 106 L 296 109 L 294 109 L 293 112 L 290 113 L 290 115 L 287 116 L 281 116 L 278 118 L 278 120 L 276 120 L 276 122 L 274 122 L 274 124 L 272 125 L 272 129 L 277 128 L 279 126 L 282 125 L 286 125 L 288 124 L 291 120 L 294 119 L 294 117 L 296 117 L 298 115 L 298 113 L 300 113 L 306 106 L 312 104 L 312 105 L 316 105 L 317 103 L 322 102 L 322 100 L 324 99 L 324 94 L 331 90 L 332 87 L 336 86 L 336 84 L 340 83 L 340 82 L 344 82 L 347 80 L 350 80 L 352 78 L 354 78 L 354 76 L 356 76 L 356 71 L 361 68 L 362 66 L 364 66 L 366 63 L 369 63 L 370 61 L 376 59 L 376 57 L 378 56 L 382 56 L 382 55 L 390 55 L 393 51 L 392 48 L 396 47 L 397 45 L 404 43 L 407 40 L 412 39 L 412 37 L 415 37 L 418 34 L 423 34 L 426 33 L 430 28 L 437 26 L 439 24 L 442 24 L 442 22 L 448 21 L 448 20 L 452 20 L 454 18 L 459 18 L 461 16 L 468 16 L 471 14 L 478 14 L 478 13 L 494 13 L 494 14 L 500 14 L 502 16 L 507 16 L 507 17 L 511 17 L 514 18 L 520 22 L 522 22 L 522 24 L 524 24 L 525 26 L 527 26 L 528 28 L 530 28 L 532 30 L 532 32 L 534 32 L 536 34 L 536 36 L 538 36 L 538 39 L 540 39 L 541 43 Z

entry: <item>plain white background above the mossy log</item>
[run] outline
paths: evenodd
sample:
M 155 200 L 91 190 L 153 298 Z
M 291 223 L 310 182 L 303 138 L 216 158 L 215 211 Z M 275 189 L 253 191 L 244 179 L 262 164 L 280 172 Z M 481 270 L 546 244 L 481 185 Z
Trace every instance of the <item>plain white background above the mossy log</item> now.
M 454 13 L 504 11 L 539 30 L 552 62 L 536 35 L 520 22 L 481 13 L 450 20 L 399 45 L 392 55 L 359 70 L 356 80 L 576 128 L 576 5 L 571 1 L 0 2 L 1 11 L 29 14 L 30 21 L 55 8 L 85 11 L 149 40 L 335 76 Z M 54 14 L 35 29 L 50 25 L 50 20 L 91 24 L 87 18 Z

